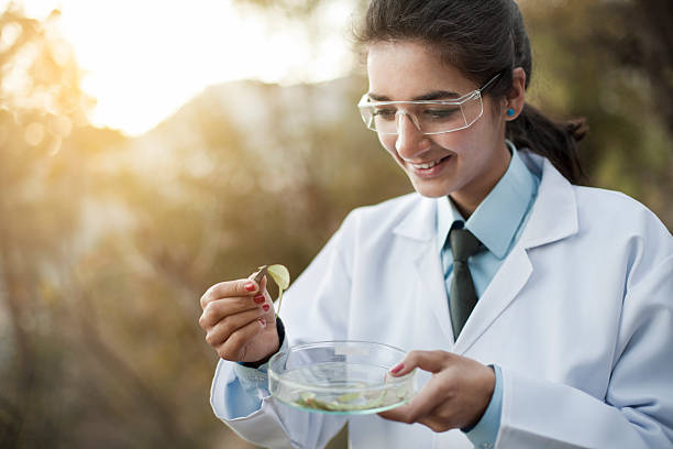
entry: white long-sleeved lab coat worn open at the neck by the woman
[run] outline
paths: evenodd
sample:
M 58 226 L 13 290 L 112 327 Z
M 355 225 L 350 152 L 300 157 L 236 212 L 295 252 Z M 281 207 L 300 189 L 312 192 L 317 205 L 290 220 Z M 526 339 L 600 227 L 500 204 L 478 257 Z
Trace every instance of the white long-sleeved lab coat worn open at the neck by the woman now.
M 411 194 L 345 219 L 284 300 L 289 343 L 369 340 L 496 363 L 498 448 L 672 448 L 671 233 L 633 199 L 573 186 L 547 160 L 521 156 L 541 173 L 538 199 L 457 341 L 435 244 L 437 200 Z M 220 361 L 211 404 L 240 436 L 318 448 L 343 425 L 269 397 L 250 416 L 227 419 L 232 366 Z M 377 415 L 350 418 L 350 445 L 472 447 L 460 430 Z

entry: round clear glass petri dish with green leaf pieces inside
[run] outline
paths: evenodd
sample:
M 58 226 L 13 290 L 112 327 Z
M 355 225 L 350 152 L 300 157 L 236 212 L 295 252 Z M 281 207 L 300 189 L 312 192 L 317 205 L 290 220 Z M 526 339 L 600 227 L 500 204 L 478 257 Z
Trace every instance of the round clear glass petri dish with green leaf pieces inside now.
M 268 386 L 276 399 L 308 412 L 385 412 L 416 394 L 416 370 L 401 377 L 388 373 L 404 357 L 401 349 L 369 341 L 300 344 L 269 360 Z

